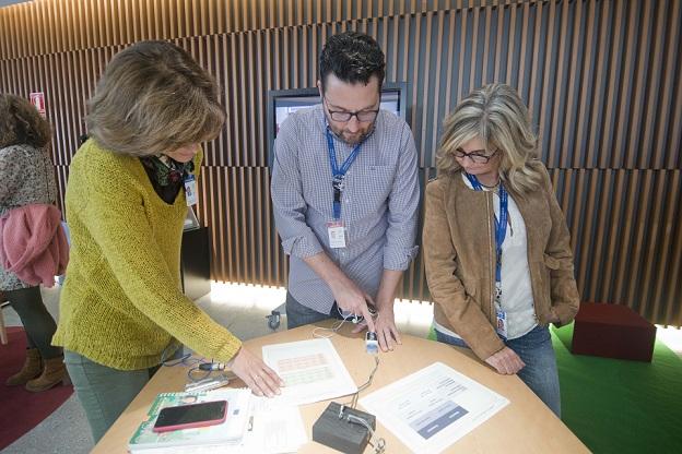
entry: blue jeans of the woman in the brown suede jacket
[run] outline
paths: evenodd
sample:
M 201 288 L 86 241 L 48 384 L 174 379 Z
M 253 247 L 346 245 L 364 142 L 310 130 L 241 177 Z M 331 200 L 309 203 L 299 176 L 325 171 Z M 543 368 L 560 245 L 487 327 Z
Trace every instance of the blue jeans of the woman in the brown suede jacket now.
M 436 338 L 444 344 L 469 348 L 462 339 L 440 333 L 437 330 Z M 526 367 L 518 371 L 518 378 L 561 418 L 558 372 L 556 371 L 556 356 L 552 347 L 549 327 L 538 325 L 528 334 L 504 340 L 504 343 L 526 363 Z

